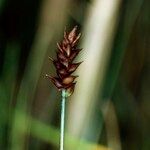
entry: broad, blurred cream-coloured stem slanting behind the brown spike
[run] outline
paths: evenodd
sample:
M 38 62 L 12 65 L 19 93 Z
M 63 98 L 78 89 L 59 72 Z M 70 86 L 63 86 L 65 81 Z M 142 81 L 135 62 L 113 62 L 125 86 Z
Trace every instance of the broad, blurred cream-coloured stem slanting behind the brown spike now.
M 85 49 L 82 60 L 86 61 L 78 69 L 80 84 L 72 95 L 67 119 L 68 132 L 80 139 L 98 142 L 100 137 L 103 120 L 99 115 L 99 94 L 111 55 L 120 4 L 121 0 L 93 0 L 87 10 L 82 44 Z

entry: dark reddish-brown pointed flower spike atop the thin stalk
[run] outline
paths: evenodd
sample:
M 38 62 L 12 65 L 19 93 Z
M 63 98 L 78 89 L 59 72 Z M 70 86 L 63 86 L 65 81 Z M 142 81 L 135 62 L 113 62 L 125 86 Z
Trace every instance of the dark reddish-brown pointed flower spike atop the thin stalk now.
M 68 96 L 73 93 L 76 84 L 74 81 L 78 77 L 72 75 L 72 73 L 82 63 L 73 62 L 75 57 L 82 50 L 77 48 L 77 43 L 80 36 L 81 34 L 77 33 L 77 26 L 75 26 L 69 33 L 65 31 L 64 39 L 60 43 L 57 43 L 57 58 L 53 59 L 49 57 L 56 68 L 57 77 L 51 77 L 49 75 L 46 76 L 59 91 L 65 89 Z

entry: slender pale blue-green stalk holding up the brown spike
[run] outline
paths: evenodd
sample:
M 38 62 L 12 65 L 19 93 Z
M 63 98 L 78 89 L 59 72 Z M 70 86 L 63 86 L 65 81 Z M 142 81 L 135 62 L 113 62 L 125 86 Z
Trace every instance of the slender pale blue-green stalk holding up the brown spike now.
M 66 90 L 63 89 L 61 100 L 60 150 L 64 150 L 65 103 L 66 103 Z

